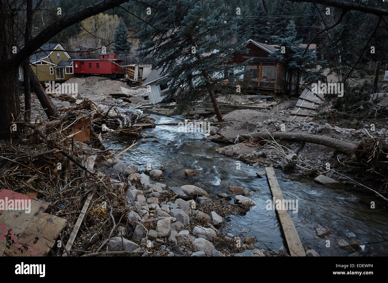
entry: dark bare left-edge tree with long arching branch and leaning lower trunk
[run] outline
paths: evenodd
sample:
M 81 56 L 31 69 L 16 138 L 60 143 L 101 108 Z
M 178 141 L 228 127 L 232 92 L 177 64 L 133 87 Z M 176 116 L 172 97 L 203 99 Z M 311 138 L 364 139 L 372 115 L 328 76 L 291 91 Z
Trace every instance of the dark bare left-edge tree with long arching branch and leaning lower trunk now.
M 133 0 L 135 1 L 135 0 Z M 104 12 L 105 10 L 116 7 L 126 0 L 104 0 L 98 3 L 80 9 L 72 14 L 64 15 L 60 19 L 54 21 L 52 24 L 46 26 L 35 37 L 31 36 L 31 21 L 32 17 L 26 17 L 26 40 L 22 48 L 18 48 L 16 38 L 21 36 L 20 29 L 15 28 L 15 20 L 18 12 L 26 10 L 26 14 L 30 15 L 32 12 L 39 10 L 42 0 L 36 2 L 35 7 L 32 5 L 32 0 L 8 1 L 0 0 L 0 138 L 8 140 L 11 134 L 11 126 L 20 115 L 19 105 L 19 82 L 18 73 L 19 66 L 24 69 L 29 69 L 28 58 L 38 50 L 44 43 L 50 40 L 57 33 L 63 29 L 82 21 L 90 16 Z M 145 1 L 136 0 L 136 2 L 145 3 Z M 160 1 L 153 1 L 147 4 L 149 7 L 156 7 L 155 5 Z M 26 8 L 24 8 L 26 7 Z M 63 11 L 64 12 L 64 11 Z M 16 53 L 15 53 L 16 52 Z M 57 110 L 45 94 L 41 87 L 38 87 L 36 76 L 33 75 L 31 69 L 28 71 L 28 76 L 31 80 L 31 86 L 35 86 L 34 90 L 40 103 L 49 118 L 57 116 Z M 28 87 L 28 85 L 26 85 Z M 28 105 L 26 105 L 28 106 Z M 17 135 L 17 133 L 15 134 Z

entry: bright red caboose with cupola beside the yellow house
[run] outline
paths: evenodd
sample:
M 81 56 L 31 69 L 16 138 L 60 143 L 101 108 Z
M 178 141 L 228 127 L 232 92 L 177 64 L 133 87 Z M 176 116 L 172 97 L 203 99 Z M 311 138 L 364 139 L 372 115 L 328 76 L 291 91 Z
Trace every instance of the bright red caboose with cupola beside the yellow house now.
M 123 60 L 117 59 L 113 53 L 100 53 L 99 59 L 73 59 L 74 74 L 100 74 L 116 78 L 125 74 L 125 69 L 120 67 L 121 62 Z

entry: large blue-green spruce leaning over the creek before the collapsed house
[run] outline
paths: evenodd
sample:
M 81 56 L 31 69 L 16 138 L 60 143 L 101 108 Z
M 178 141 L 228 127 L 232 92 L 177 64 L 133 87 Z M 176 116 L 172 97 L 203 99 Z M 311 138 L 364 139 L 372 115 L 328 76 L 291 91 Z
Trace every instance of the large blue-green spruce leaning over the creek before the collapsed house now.
M 140 57 L 157 58 L 153 69 L 161 68 L 167 76 L 166 99 L 180 93 L 176 109 L 179 112 L 197 101 L 213 104 L 217 119 L 223 120 L 215 94 L 232 90 L 234 84 L 246 73 L 244 64 L 230 64 L 233 53 L 244 41 L 233 41 L 237 33 L 237 17 L 227 19 L 224 5 L 215 7 L 211 3 L 187 0 L 170 1 L 169 7 L 159 7 L 151 17 L 152 26 L 139 32 Z M 226 70 L 225 70 L 226 69 Z M 225 74 L 231 85 L 227 88 Z

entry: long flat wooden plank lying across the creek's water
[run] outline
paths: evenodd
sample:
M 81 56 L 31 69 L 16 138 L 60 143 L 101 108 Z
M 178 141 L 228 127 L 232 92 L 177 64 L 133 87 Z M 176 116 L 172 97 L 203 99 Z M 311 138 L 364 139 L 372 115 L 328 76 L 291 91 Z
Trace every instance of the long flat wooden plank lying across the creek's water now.
M 279 183 L 277 182 L 275 171 L 273 167 L 265 167 L 265 171 L 267 172 L 268 183 L 271 188 L 272 196 L 276 200 L 284 200 L 282 191 L 280 189 Z M 275 206 L 276 207 L 276 206 Z M 288 250 L 292 257 L 306 256 L 305 250 L 303 249 L 302 243 L 300 242 L 300 238 L 298 236 L 298 232 L 296 232 L 294 223 L 288 214 L 286 209 L 276 209 L 277 214 L 279 216 L 280 224 L 282 226 L 282 230 L 284 236 L 286 237 L 286 242 L 288 245 Z

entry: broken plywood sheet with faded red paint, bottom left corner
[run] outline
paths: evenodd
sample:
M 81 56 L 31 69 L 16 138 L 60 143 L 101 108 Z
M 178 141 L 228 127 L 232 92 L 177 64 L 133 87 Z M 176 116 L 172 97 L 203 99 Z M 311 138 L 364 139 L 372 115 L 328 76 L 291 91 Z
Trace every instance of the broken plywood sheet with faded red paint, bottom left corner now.
M 0 256 L 47 254 L 66 219 L 45 213 L 49 203 L 21 193 L 0 189 L 0 200 L 27 200 L 30 209 L 29 213 L 26 210 L 0 209 Z

